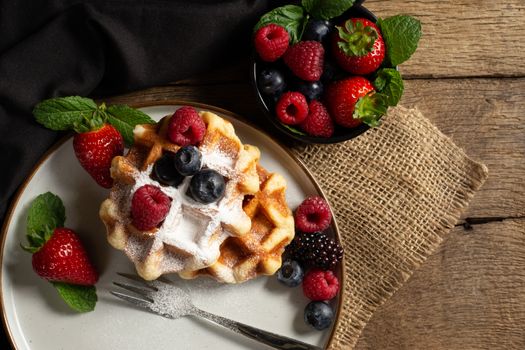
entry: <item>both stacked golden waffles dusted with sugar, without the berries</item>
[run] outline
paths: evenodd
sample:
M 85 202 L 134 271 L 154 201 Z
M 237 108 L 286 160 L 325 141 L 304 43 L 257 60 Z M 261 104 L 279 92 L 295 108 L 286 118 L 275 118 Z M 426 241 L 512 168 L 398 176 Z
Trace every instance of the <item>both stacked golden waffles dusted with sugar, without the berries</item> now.
M 183 278 L 210 276 L 240 283 L 271 275 L 294 237 L 286 181 L 259 164 L 259 149 L 242 144 L 229 121 L 211 112 L 199 114 L 206 125 L 197 145 L 203 166 L 224 176 L 224 196 L 217 203 L 202 204 L 185 195 L 188 181 L 178 188 L 157 182 L 153 165 L 180 146 L 167 136 L 170 117 L 138 125 L 134 146 L 113 159 L 114 185 L 100 207 L 108 241 L 126 253 L 146 280 L 178 273 Z M 132 224 L 131 198 L 146 184 L 161 188 L 172 205 L 159 226 L 141 231 Z

